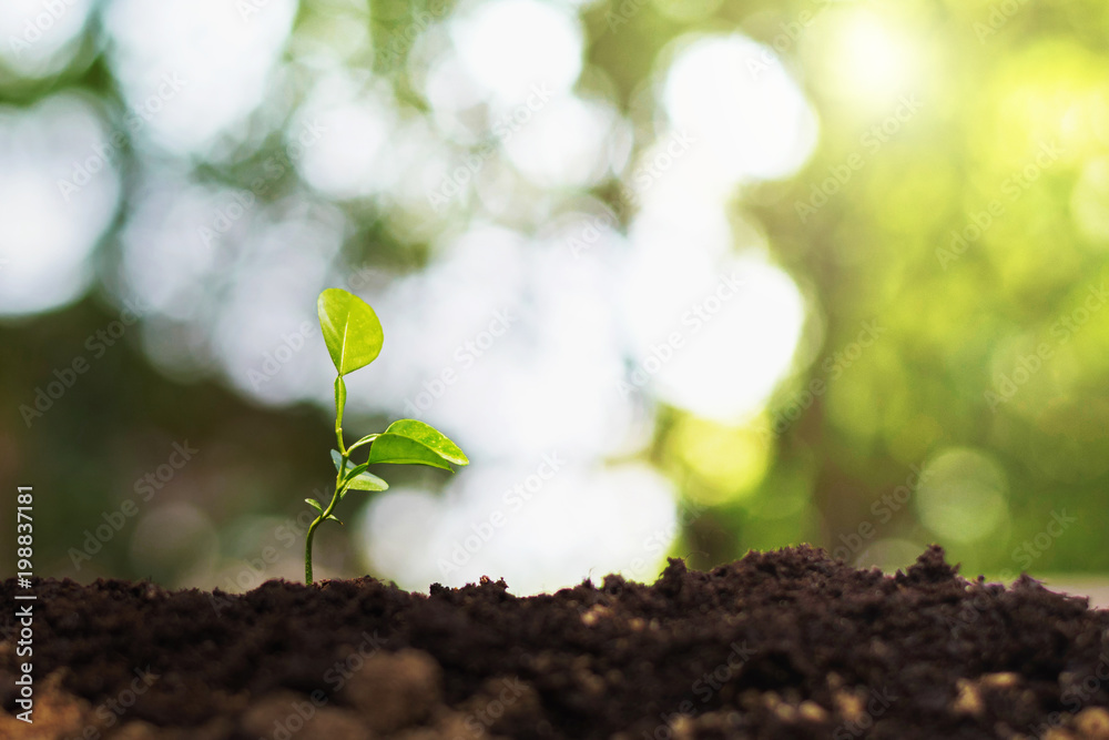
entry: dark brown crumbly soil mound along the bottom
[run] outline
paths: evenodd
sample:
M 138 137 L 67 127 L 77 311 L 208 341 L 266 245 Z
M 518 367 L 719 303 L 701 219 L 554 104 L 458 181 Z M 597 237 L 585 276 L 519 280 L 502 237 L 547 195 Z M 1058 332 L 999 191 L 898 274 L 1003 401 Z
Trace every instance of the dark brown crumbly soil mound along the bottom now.
M 800 547 L 507 588 L 38 580 L 35 722 L 13 718 L 6 610 L 0 736 L 1109 738 L 1109 611 L 967 581 L 939 548 L 896 576 Z

